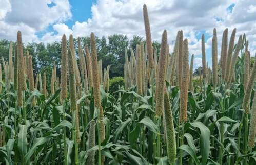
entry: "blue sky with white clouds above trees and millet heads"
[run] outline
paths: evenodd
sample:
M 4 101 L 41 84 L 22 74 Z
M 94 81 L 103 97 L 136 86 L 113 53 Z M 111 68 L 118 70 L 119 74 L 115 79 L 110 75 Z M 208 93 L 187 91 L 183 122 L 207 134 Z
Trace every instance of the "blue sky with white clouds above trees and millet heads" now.
M 213 28 L 218 34 L 219 58 L 225 28 L 228 40 L 233 28 L 237 28 L 235 42 L 245 33 L 251 56 L 255 56 L 255 0 L 0 0 L 0 39 L 15 41 L 18 30 L 24 43 L 52 43 L 61 41 L 63 34 L 77 37 L 91 32 L 99 37 L 117 33 L 145 39 L 143 4 L 148 8 L 152 39 L 160 42 L 166 29 L 170 52 L 176 33 L 183 30 L 190 57 L 194 54 L 194 68 L 202 65 L 202 34 L 211 66 Z

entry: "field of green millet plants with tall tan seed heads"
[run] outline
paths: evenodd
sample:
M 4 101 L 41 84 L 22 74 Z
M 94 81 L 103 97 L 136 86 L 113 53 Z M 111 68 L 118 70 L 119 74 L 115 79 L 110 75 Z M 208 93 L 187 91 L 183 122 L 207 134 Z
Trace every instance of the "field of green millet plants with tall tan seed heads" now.
M 94 33 L 90 45 L 64 34 L 61 74 L 52 61 L 47 80 L 17 32 L 0 64 L 0 164 L 256 164 L 256 62 L 246 35 L 226 29 L 218 50 L 214 28 L 209 67 L 203 34 L 195 79 L 183 31 L 169 50 L 164 30 L 157 53 L 146 5 L 143 16 L 146 42 L 124 50 L 115 91 Z

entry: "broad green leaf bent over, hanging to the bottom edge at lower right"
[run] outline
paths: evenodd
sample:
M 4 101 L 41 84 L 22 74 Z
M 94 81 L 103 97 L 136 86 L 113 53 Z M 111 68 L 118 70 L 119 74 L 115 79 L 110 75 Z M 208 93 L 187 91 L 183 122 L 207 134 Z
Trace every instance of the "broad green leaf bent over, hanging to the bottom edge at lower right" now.
M 205 165 L 210 153 L 210 130 L 201 122 L 190 123 L 191 126 L 200 129 L 200 151 L 202 165 Z

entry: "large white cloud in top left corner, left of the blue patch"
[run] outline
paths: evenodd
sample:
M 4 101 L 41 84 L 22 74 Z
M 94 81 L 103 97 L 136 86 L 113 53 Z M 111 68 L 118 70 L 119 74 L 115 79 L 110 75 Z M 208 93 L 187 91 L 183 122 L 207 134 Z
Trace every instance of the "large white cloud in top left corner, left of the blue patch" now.
M 68 0 L 0 0 L 0 38 L 16 40 L 21 30 L 24 42 L 38 41 L 36 32 L 71 16 Z

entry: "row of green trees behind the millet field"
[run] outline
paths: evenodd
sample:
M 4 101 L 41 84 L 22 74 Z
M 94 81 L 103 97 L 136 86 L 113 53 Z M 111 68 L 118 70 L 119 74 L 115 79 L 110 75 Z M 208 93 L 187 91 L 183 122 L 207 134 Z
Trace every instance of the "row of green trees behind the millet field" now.
M 127 49 L 128 55 L 130 55 L 130 48 L 135 53 L 136 44 L 140 44 L 142 41 L 145 42 L 141 36 L 133 36 L 132 39 L 128 39 L 123 34 L 113 34 L 107 38 L 105 36 L 96 37 L 97 54 L 99 59 L 102 59 L 103 68 L 111 65 L 110 78 L 124 76 L 125 49 Z M 81 43 L 83 48 L 86 44 L 90 48 L 90 37 L 81 37 Z M 8 61 L 9 44 L 10 41 L 6 39 L 0 40 L 0 55 L 4 57 L 5 61 Z M 74 38 L 74 44 L 76 53 L 78 53 L 77 38 Z M 154 41 L 153 46 L 159 52 L 160 43 Z M 29 42 L 24 44 L 23 48 L 25 53 L 28 51 L 32 56 L 34 74 L 46 72 L 50 76 L 55 61 L 57 75 L 61 75 L 61 41 L 47 44 Z

